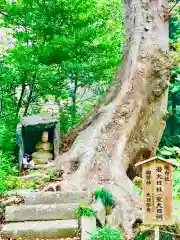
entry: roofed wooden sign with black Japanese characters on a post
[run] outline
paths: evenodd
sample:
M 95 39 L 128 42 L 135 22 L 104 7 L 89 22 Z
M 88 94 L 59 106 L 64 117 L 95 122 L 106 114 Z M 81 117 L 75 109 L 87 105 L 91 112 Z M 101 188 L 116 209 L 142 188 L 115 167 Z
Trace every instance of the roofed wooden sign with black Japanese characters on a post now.
M 157 226 L 155 239 L 159 225 L 173 224 L 173 165 L 178 166 L 174 161 L 153 157 L 135 164 L 142 165 L 143 223 Z

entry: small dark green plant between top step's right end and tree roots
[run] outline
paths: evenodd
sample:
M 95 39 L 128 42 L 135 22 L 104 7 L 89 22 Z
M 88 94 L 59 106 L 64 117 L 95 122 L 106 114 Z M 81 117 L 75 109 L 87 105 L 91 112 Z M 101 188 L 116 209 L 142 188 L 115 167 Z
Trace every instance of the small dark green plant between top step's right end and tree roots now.
M 105 207 L 114 207 L 115 206 L 115 201 L 113 199 L 112 194 L 103 188 L 99 188 L 95 191 L 95 198 L 101 199 L 101 201 Z

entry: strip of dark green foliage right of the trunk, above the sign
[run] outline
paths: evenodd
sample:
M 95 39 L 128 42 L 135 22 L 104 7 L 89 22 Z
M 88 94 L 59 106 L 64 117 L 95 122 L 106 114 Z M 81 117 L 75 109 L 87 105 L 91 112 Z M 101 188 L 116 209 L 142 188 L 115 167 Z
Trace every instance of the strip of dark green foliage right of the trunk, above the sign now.
M 174 2 L 172 3 L 174 5 Z M 160 147 L 180 147 L 180 25 L 178 5 L 173 8 L 173 15 L 169 21 L 169 45 L 174 66 L 171 69 L 169 86 L 168 111 L 166 128 L 161 139 Z

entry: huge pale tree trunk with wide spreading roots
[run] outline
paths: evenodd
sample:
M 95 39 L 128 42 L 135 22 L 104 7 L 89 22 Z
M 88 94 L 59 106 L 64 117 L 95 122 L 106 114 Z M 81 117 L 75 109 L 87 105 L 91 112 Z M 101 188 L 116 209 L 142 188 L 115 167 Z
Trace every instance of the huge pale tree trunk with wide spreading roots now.
M 139 217 L 133 166 L 155 155 L 166 117 L 170 61 L 162 5 L 164 0 L 125 0 L 127 46 L 115 87 L 70 151 L 56 161 L 57 168 L 67 161 L 79 163 L 62 189 L 103 185 L 113 193 L 119 204 L 112 219 L 130 236 Z

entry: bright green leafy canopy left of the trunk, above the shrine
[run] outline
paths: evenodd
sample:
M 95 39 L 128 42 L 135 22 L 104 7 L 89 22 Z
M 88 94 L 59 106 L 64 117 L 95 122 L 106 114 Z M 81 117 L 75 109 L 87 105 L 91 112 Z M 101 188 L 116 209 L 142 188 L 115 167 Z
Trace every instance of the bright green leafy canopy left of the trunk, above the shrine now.
M 3 58 L 3 89 L 33 89 L 20 106 L 47 95 L 75 100 L 78 88 L 112 79 L 123 42 L 118 0 L 2 1 L 2 6 L 1 25 L 13 27 L 16 40 Z

